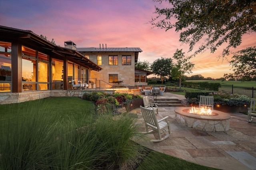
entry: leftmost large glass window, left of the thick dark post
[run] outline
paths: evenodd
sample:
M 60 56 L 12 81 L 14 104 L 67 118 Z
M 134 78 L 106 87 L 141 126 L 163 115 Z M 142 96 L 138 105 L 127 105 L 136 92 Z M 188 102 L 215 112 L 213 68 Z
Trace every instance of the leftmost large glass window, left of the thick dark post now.
M 0 41 L 0 92 L 10 92 L 12 81 L 12 43 Z

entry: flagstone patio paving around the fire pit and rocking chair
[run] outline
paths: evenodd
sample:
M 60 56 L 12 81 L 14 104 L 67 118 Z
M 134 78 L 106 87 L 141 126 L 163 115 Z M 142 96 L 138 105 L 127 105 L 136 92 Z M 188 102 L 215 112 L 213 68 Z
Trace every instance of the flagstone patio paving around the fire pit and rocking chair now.
M 162 98 L 184 96 L 166 93 Z M 228 113 L 231 116 L 230 129 L 224 132 L 207 132 L 180 125 L 175 120 L 176 107 L 158 107 L 158 119 L 169 116 L 172 134 L 164 141 L 150 142 L 156 139 L 156 133 L 145 135 L 139 141 L 152 150 L 181 158 L 196 164 L 222 170 L 256 170 L 256 118 L 248 123 L 247 115 Z M 140 130 L 145 131 L 144 119 L 140 108 L 131 113 L 138 115 Z

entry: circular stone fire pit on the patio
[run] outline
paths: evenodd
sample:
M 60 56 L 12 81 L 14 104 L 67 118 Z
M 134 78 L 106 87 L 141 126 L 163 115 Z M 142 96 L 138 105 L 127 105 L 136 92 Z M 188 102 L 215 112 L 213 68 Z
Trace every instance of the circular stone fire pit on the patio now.
M 229 114 L 222 111 L 213 110 L 212 115 L 196 115 L 189 113 L 190 107 L 181 107 L 175 109 L 175 119 L 178 123 L 193 129 L 199 129 L 203 131 L 219 132 L 228 131 Z

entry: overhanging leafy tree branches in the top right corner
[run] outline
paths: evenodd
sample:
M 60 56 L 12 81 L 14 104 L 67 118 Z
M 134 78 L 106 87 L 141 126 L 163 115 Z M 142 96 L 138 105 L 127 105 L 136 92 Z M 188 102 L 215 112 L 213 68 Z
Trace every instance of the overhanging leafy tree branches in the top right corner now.
M 175 28 L 180 41 L 194 45 L 200 41 L 195 54 L 210 49 L 213 53 L 223 43 L 228 43 L 222 55 L 229 54 L 230 47 L 242 42 L 242 35 L 256 31 L 255 0 L 153 0 L 166 1 L 171 8 L 155 8 L 153 27 Z

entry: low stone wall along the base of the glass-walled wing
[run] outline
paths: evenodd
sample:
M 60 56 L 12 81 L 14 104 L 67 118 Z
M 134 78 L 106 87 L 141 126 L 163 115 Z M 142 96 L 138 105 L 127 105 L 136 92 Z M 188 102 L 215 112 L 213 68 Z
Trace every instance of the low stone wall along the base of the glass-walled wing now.
M 37 100 L 48 97 L 82 97 L 85 92 L 94 92 L 95 90 L 42 90 L 34 92 L 22 93 L 0 93 L 0 104 L 20 103 L 30 100 Z M 100 90 L 100 92 L 115 93 L 116 90 Z M 128 89 L 118 91 L 121 93 L 128 93 Z

